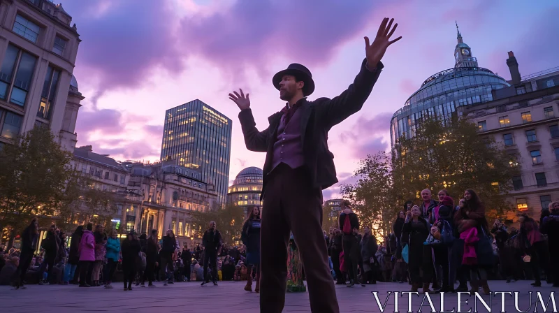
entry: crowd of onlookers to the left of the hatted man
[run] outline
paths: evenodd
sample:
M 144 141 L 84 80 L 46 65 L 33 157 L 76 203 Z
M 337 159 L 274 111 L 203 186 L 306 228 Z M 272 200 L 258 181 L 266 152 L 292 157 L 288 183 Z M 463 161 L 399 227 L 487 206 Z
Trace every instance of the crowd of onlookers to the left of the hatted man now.
M 53 224 L 39 240 L 34 218 L 21 234 L 20 249 L 5 252 L 0 247 L 0 285 L 25 289 L 26 284 L 76 284 L 112 289 L 113 281 L 122 281 L 124 291 L 131 291 L 133 284 L 154 287 L 154 282 L 166 286 L 198 281 L 203 286 L 210 281 L 217 285 L 218 280 L 245 280 L 245 290 L 252 291 L 256 279 L 254 291 L 258 292 L 259 229 L 260 210 L 254 207 L 243 227 L 245 245 L 226 247 L 212 221 L 202 245 L 184 244 L 181 249 L 172 230 L 161 239 L 154 229 L 139 237 L 132 231 L 121 240 L 116 230 L 106 232 L 103 225 L 94 228 L 92 224 L 78 226 L 70 240 Z

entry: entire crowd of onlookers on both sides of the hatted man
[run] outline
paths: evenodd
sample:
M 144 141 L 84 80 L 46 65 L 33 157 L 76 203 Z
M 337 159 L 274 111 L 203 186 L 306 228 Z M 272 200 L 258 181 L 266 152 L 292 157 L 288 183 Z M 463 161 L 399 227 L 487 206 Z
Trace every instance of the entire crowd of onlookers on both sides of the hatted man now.
M 393 222 L 393 232 L 377 244 L 368 225 L 361 225 L 349 201 L 342 202 L 339 228 L 324 232 L 331 273 L 336 284 L 376 284 L 409 282 L 412 291 L 489 293 L 489 279 L 533 279 L 542 286 L 542 277 L 559 286 L 559 202 L 542 210 L 539 221 L 528 214 L 518 217 L 519 227 L 510 229 L 495 220 L 489 225 L 485 207 L 473 190 L 465 191 L 454 203 L 446 190 L 432 199 L 431 191 L 421 191 L 421 203 L 407 201 Z M 259 292 L 260 227 L 258 206 L 249 209 L 242 227 L 239 247 L 226 247 L 214 221 L 203 234 L 202 245 L 180 249 L 173 231 L 159 239 L 150 234 L 105 231 L 103 225 L 78 226 L 68 245 L 66 233 L 52 225 L 39 242 L 37 219 L 21 234 L 19 250 L 0 252 L 0 284 L 77 284 L 104 286 L 122 281 L 124 291 L 132 285 L 164 286 L 175 282 L 246 281 L 245 290 Z M 289 260 L 288 260 L 289 263 Z M 303 270 L 304 277 L 304 270 Z M 147 281 L 147 285 L 146 285 Z M 455 283 L 458 286 L 455 289 Z M 470 289 L 467 282 L 470 282 Z

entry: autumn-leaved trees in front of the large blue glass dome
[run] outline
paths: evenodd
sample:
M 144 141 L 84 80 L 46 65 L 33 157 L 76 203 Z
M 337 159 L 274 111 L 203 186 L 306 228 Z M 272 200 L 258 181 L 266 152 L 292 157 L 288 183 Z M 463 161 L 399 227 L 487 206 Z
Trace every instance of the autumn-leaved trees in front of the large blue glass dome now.
M 429 119 L 412 138 L 399 138 L 391 156 L 379 152 L 362 159 L 355 172 L 358 182 L 341 191 L 354 203 L 362 224 L 376 225 L 386 234 L 403 203 L 419 203 L 423 189 L 433 194 L 447 189 L 456 203 L 466 189 L 473 189 L 489 218 L 502 217 L 511 209 L 506 198 L 519 170 L 516 155 L 493 137 L 479 136 L 467 119 Z

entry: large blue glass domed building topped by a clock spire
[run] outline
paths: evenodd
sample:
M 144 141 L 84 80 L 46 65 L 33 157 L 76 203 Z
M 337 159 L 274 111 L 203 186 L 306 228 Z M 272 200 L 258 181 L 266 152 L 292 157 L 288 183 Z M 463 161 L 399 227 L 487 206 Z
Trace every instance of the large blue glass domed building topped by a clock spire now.
M 472 50 L 463 42 L 460 31 L 457 38 L 454 68 L 436 73 L 425 80 L 421 87 L 409 96 L 404 107 L 392 116 L 392 147 L 402 136 L 412 138 L 421 120 L 432 117 L 450 119 L 459 106 L 492 101 L 493 90 L 510 87 L 504 78 L 477 65 L 477 59 L 472 57 Z

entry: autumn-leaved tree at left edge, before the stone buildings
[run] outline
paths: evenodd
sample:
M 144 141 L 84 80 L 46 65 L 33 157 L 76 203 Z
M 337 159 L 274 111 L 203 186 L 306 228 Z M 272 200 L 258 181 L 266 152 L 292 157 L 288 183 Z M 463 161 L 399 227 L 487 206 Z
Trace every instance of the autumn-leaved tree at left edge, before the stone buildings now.
M 76 214 L 104 224 L 116 211 L 114 195 L 93 189 L 71 159 L 48 126 L 35 126 L 0 150 L 0 229 L 9 229 L 10 244 L 33 217 L 39 226 L 69 231 Z

